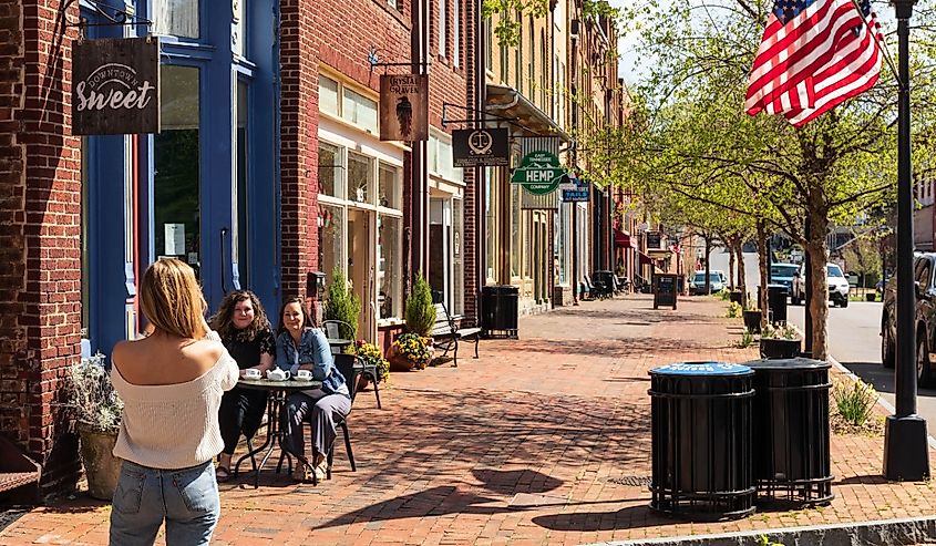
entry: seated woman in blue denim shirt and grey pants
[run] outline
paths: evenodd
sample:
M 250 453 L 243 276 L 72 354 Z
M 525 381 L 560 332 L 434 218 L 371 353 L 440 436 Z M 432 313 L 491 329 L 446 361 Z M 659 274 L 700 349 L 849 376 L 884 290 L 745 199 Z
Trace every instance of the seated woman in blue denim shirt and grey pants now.
M 282 412 L 285 446 L 290 452 L 306 456 L 302 423 L 312 424 L 312 447 L 316 455 L 312 468 L 317 480 L 326 475 L 326 453 L 335 442 L 335 418 L 346 418 L 351 412 L 351 396 L 341 372 L 335 368 L 331 349 L 325 334 L 309 317 L 305 302 L 299 298 L 284 301 L 279 311 L 276 337 L 276 365 L 295 377 L 299 370 L 310 370 L 321 388 L 296 392 L 286 401 Z M 292 477 L 305 481 L 305 466 L 299 463 Z

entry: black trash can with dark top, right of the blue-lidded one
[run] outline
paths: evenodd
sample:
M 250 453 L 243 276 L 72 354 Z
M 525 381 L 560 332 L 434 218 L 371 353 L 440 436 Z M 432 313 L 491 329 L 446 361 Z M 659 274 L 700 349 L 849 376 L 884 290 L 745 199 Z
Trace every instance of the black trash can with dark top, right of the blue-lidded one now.
M 816 505 L 832 501 L 827 362 L 754 360 L 754 480 L 758 492 Z

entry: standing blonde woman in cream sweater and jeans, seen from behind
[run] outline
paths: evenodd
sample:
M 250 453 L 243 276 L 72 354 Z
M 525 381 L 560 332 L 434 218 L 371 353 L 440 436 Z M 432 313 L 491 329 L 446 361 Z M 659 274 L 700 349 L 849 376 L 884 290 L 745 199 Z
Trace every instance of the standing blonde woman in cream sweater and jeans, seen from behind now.
M 140 285 L 152 333 L 114 347 L 111 380 L 124 401 L 114 455 L 123 459 L 111 545 L 208 544 L 220 502 L 213 460 L 224 447 L 218 408 L 237 363 L 205 322 L 207 305 L 188 265 L 161 259 Z

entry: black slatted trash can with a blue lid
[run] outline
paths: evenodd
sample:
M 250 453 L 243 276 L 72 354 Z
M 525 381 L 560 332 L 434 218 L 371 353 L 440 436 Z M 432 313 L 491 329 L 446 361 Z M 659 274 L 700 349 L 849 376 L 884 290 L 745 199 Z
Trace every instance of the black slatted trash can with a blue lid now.
M 650 508 L 690 519 L 754 512 L 753 377 L 723 362 L 650 370 Z

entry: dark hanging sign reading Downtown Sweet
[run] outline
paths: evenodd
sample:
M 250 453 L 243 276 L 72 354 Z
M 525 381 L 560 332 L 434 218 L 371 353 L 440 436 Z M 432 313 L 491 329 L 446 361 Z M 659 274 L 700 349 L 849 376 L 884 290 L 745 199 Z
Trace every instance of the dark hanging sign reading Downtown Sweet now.
M 72 134 L 160 132 L 160 40 L 75 42 Z

